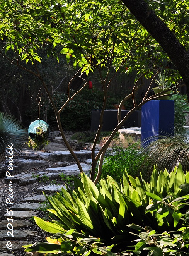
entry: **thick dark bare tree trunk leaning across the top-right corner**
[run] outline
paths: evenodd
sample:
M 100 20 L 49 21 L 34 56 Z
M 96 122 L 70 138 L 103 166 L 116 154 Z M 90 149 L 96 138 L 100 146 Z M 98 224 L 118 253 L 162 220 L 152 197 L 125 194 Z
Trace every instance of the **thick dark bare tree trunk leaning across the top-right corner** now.
M 186 84 L 189 98 L 189 53 L 185 47 L 144 0 L 122 0 L 122 2 L 172 60 Z

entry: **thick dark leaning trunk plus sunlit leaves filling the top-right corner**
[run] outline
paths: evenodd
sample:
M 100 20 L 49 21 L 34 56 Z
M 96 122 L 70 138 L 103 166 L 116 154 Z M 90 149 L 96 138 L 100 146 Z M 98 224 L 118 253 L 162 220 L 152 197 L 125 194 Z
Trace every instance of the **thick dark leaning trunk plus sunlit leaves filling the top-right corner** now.
M 189 100 L 188 1 L 122 2 L 167 53 L 187 86 Z

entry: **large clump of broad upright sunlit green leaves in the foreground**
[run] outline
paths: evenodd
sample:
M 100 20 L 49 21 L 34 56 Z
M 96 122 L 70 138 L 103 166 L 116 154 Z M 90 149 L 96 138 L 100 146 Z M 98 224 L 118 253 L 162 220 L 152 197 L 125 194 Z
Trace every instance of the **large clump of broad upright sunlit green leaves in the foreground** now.
M 154 167 L 150 183 L 125 172 L 122 185 L 108 177 L 100 180 L 98 188 L 81 174 L 81 180 L 75 178 L 75 191 L 67 187 L 67 191 L 62 189 L 64 196 L 46 196 L 52 207 L 48 211 L 60 221 L 34 217 L 41 229 L 54 235 L 47 237 L 48 242 L 23 247 L 27 252 L 89 255 L 108 251 L 114 256 L 132 244 L 133 227 L 137 234 L 146 226 L 158 232 L 181 227 L 180 217 L 187 206 L 181 208 L 177 202 L 189 198 L 187 191 L 180 189 L 188 182 L 189 173 L 184 174 L 181 165 L 170 174 Z

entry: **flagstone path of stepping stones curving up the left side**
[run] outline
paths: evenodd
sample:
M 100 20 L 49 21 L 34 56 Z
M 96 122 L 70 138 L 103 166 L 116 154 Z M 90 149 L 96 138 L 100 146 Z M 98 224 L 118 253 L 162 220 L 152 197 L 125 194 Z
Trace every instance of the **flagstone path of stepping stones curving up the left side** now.
M 89 173 L 91 151 L 77 151 L 75 153 L 82 162 L 84 172 Z M 84 163 L 85 161 L 86 163 Z M 30 256 L 31 253 L 24 253 L 22 245 L 34 243 L 41 233 L 41 229 L 32 221 L 32 217 L 41 217 L 44 214 L 40 210 L 40 203 L 46 201 L 42 191 L 52 195 L 61 187 L 66 188 L 61 181 L 61 175 L 64 177 L 67 175 L 77 176 L 79 169 L 76 164 L 73 164 L 72 155 L 62 149 L 61 151 L 48 152 L 25 150 L 22 153 L 22 158 L 14 159 L 13 167 L 13 177 L 4 178 L 8 165 L 0 165 L 0 180 L 5 194 L 2 196 L 5 214 L 0 216 L 0 256 Z M 56 180 L 57 185 L 51 184 L 52 180 Z M 28 190 L 31 196 L 20 196 L 19 199 L 13 197 L 14 203 L 7 206 L 5 201 L 6 198 L 9 198 L 10 183 L 12 183 L 13 194 L 15 187 L 15 189 L 19 189 L 20 195 L 22 193 L 27 194 L 26 191 Z M 9 198 L 10 202 L 13 202 L 13 198 Z M 43 234 L 44 237 L 49 235 L 46 232 Z M 12 250 L 7 249 L 10 242 Z M 38 255 L 35 254 L 34 256 Z

